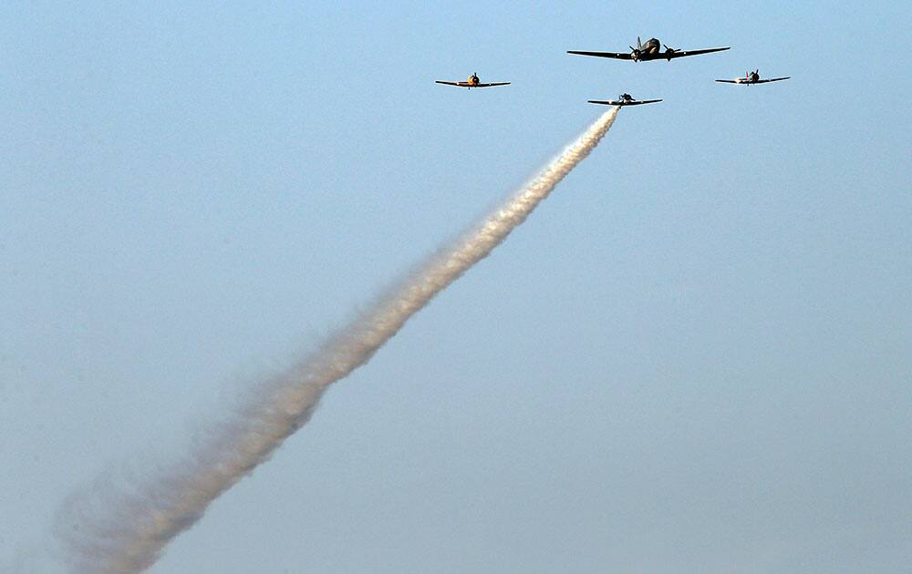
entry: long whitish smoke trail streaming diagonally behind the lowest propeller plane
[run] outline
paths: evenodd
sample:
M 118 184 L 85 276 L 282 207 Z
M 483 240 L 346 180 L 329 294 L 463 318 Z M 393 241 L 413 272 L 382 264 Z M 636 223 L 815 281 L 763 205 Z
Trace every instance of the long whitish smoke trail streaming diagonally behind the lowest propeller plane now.
M 258 389 L 177 464 L 113 494 L 97 486 L 70 497 L 57 520 L 67 562 L 80 572 L 124 573 L 149 568 L 162 549 L 202 518 L 206 507 L 263 463 L 304 425 L 330 384 L 368 362 L 431 298 L 486 257 L 554 187 L 596 148 L 611 128 L 612 108 L 522 190 L 422 264 L 374 307 L 316 353 Z M 78 529 L 74 529 L 78 527 Z

